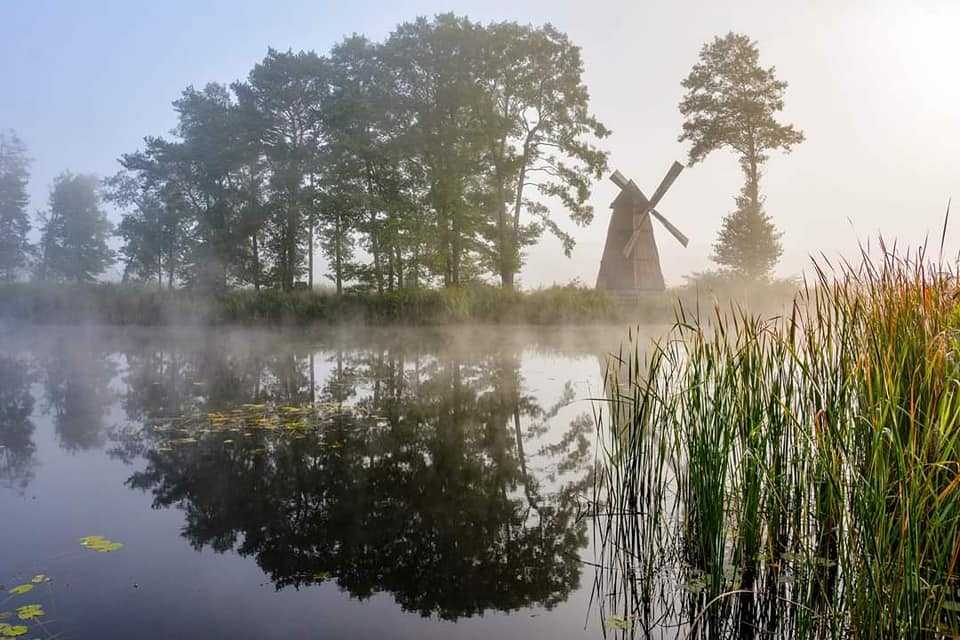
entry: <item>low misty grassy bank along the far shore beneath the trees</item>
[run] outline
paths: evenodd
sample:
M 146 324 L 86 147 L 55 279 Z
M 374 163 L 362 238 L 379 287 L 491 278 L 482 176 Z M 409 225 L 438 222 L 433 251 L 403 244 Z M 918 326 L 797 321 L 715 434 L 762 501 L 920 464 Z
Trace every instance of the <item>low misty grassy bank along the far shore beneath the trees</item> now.
M 782 293 L 782 302 L 785 296 Z M 95 322 L 112 325 L 461 322 L 591 324 L 669 322 L 678 298 L 710 296 L 714 289 L 684 287 L 624 302 L 603 291 L 555 286 L 503 291 L 491 286 L 400 290 L 384 294 L 237 290 L 204 294 L 117 284 L 0 285 L 0 320 L 33 324 Z M 727 295 L 724 290 L 723 295 Z

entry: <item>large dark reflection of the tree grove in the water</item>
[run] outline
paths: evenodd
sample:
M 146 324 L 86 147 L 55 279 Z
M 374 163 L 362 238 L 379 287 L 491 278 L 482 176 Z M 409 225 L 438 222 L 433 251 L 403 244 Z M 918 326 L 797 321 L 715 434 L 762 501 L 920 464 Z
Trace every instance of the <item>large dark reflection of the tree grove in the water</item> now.
M 244 402 L 350 408 L 299 436 L 206 433 L 178 445 L 182 434 L 148 430 L 146 468 L 128 483 L 155 507 L 182 508 L 194 547 L 252 556 L 277 588 L 332 579 L 447 619 L 551 607 L 578 586 L 586 526 L 572 498 L 590 481 L 591 423 L 547 442 L 544 423 L 572 392 L 540 407 L 514 354 L 210 348 L 127 359 L 136 419 Z M 155 364 L 156 375 L 136 373 Z

